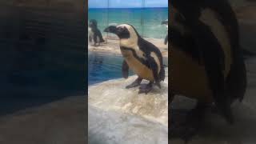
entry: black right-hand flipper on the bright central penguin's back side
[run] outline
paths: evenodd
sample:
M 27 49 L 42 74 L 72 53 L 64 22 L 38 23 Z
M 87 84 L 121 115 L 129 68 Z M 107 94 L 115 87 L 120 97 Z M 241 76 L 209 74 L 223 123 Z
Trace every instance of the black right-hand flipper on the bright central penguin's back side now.
M 158 77 L 158 64 L 157 64 L 157 62 L 155 62 L 155 59 L 151 56 L 148 56 L 147 60 L 148 60 L 149 65 L 150 65 L 150 69 L 152 70 L 153 75 L 154 75 L 154 82 L 161 89 L 160 79 Z

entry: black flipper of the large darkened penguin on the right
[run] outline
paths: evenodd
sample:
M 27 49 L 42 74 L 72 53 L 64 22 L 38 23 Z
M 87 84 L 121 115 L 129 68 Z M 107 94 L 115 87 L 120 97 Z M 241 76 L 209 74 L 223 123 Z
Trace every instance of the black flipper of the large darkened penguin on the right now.
M 230 123 L 234 121 L 230 109 L 230 96 L 225 94 L 225 55 L 218 39 L 214 37 L 210 28 L 202 22 L 192 25 L 194 39 L 198 45 L 200 55 L 205 64 L 206 75 L 210 89 L 213 91 L 214 103 L 222 115 Z

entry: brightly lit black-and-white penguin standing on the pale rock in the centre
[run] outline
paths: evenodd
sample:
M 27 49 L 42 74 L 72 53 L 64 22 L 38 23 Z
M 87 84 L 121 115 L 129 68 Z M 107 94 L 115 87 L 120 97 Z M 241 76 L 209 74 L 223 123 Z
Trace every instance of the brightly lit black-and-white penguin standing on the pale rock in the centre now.
M 116 34 L 120 38 L 120 50 L 124 58 L 122 63 L 123 77 L 128 78 L 129 68 L 138 75 L 138 78 L 126 88 L 140 86 L 142 79 L 150 82 L 146 86 L 140 86 L 138 94 L 147 94 L 152 90 L 153 84 L 161 88 L 160 82 L 165 78 L 165 70 L 160 50 L 143 39 L 134 26 L 129 24 L 108 26 L 104 31 Z

